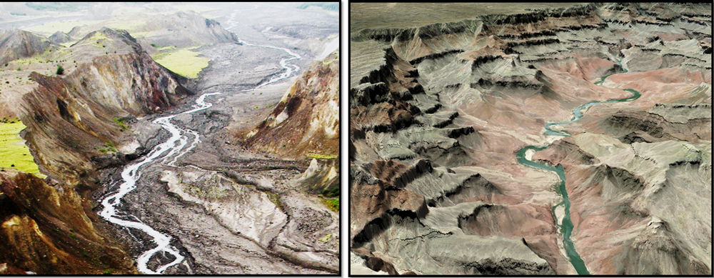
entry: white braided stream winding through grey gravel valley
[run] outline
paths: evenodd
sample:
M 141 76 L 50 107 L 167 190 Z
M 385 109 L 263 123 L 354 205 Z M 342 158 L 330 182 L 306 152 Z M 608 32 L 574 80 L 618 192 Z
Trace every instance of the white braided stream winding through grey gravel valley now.
M 290 55 L 289 58 L 281 59 L 280 64 L 281 66 L 283 66 L 283 72 L 280 75 L 266 82 L 263 82 L 262 84 L 258 84 L 258 86 L 256 86 L 255 88 L 248 89 L 246 91 L 252 91 L 268 84 L 273 84 L 277 81 L 287 79 L 299 69 L 298 66 L 294 64 L 289 64 L 288 62 L 301 59 L 301 56 L 293 53 L 292 51 L 289 51 L 288 49 L 276 46 L 249 44 L 248 42 L 242 40 L 239 42 L 246 46 L 279 49 L 285 51 L 288 55 Z M 121 227 L 125 227 L 128 229 L 136 229 L 141 232 L 144 232 L 152 238 L 153 244 L 149 244 L 149 242 L 146 242 L 147 244 L 144 245 L 155 247 L 144 251 L 143 253 L 141 253 L 141 255 L 139 255 L 139 257 L 136 258 L 137 269 L 139 269 L 139 272 L 141 273 L 162 274 L 169 267 L 183 262 L 184 257 L 180 254 L 180 252 L 178 252 L 178 249 L 176 249 L 176 247 L 171 245 L 171 236 L 156 231 L 156 229 L 144 224 L 143 222 L 141 222 L 141 220 L 137 219 L 132 215 L 122 213 L 117 209 L 117 207 L 119 207 L 119 204 L 121 204 L 122 198 L 126 196 L 126 194 L 131 193 L 139 185 L 137 184 L 137 181 L 139 181 L 139 178 L 141 178 L 141 169 L 144 169 L 146 168 L 146 166 L 156 163 L 174 165 L 176 161 L 181 156 L 183 156 L 183 154 L 190 152 L 191 149 L 196 147 L 196 145 L 200 142 L 200 135 L 196 131 L 193 131 L 191 129 L 176 126 L 175 124 L 171 123 L 171 119 L 174 119 L 174 117 L 180 114 L 191 114 L 197 111 L 210 108 L 211 106 L 213 106 L 213 104 L 207 102 L 206 98 L 208 96 L 215 96 L 218 94 L 222 94 L 222 92 L 214 91 L 202 94 L 198 97 L 198 99 L 196 99 L 196 104 L 192 106 L 192 109 L 189 109 L 188 111 L 182 111 L 176 114 L 170 114 L 168 116 L 161 116 L 158 119 L 154 120 L 154 123 L 159 124 L 163 129 L 169 131 L 171 136 L 166 139 L 166 142 L 163 142 L 154 147 L 154 149 L 152 149 L 151 152 L 146 155 L 146 157 L 141 158 L 137 162 L 126 165 L 126 167 L 124 167 L 124 170 L 121 172 L 121 180 L 118 181 L 121 183 L 119 184 L 119 188 L 116 190 L 116 192 L 110 194 L 101 201 L 101 204 L 103 206 L 102 211 L 99 213 L 101 217 L 111 223 L 118 224 Z M 188 142 L 191 142 L 191 144 L 188 144 Z M 136 220 L 130 220 L 130 218 Z M 156 269 L 149 269 L 149 261 L 156 254 L 159 254 L 159 252 L 164 254 L 164 256 L 166 256 L 166 253 L 171 254 L 174 259 L 167 264 L 163 264 L 159 267 L 156 267 Z

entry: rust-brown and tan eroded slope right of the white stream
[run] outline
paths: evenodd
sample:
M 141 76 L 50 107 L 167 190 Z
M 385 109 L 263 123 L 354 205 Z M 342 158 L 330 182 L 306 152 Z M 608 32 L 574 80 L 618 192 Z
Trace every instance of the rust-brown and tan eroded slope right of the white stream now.
M 273 112 L 244 135 L 245 143 L 286 157 L 335 156 L 339 151 L 339 61 L 333 52 L 313 63 Z

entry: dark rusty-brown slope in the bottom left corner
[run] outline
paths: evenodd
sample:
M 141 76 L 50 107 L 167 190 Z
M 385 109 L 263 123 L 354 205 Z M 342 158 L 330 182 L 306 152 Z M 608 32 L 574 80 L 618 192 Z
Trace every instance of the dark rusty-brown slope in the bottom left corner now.
M 3 274 L 136 274 L 131 258 L 96 232 L 74 189 L 0 172 Z

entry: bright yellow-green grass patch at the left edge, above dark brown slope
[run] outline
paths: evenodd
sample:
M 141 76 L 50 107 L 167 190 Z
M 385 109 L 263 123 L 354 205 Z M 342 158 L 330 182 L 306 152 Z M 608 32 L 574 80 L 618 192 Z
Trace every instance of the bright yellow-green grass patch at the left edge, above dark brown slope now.
M 39 174 L 30 149 L 19 135 L 22 129 L 25 125 L 19 119 L 0 121 L 0 168 L 13 168 L 44 178 L 46 176 Z

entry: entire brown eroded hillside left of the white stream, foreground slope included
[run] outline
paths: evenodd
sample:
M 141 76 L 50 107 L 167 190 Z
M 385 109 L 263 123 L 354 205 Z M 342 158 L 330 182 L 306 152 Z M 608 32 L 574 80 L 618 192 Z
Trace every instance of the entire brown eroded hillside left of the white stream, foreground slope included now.
M 81 48 L 96 48 L 89 44 L 96 44 L 97 37 L 119 53 L 86 55 Z M 7 251 L 2 261 L 8 269 L 136 273 L 126 246 L 96 222 L 88 194 L 99 185 L 96 169 L 142 152 L 124 120 L 175 106 L 191 92 L 179 84 L 182 77 L 156 64 L 126 31 L 101 29 L 84 41 L 59 54 L 84 52 L 84 61 L 71 72 L 32 71 L 32 82 L 6 91 L 4 103 L 14 104 L 8 111 L 26 125 L 20 135 L 40 172 L 48 176 L 43 181 L 10 169 L 0 172 Z M 41 47 L 29 49 L 35 48 Z

